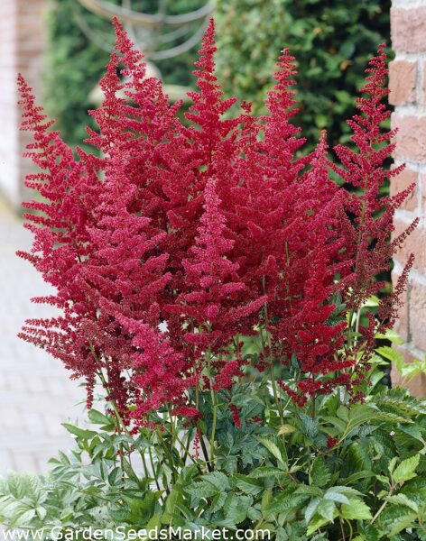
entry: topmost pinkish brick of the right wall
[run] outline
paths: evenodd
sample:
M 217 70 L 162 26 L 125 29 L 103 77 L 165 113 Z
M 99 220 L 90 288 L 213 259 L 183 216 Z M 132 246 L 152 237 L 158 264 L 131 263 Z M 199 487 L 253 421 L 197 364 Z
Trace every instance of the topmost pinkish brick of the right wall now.
M 394 50 L 426 50 L 426 6 L 391 9 L 391 37 Z

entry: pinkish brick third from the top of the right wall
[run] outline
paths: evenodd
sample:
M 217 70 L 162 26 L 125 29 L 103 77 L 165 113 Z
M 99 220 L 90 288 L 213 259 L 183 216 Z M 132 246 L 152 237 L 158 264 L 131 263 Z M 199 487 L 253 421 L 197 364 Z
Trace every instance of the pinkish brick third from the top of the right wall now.
M 394 157 L 426 162 L 426 116 L 394 113 L 392 127 L 398 128 Z

